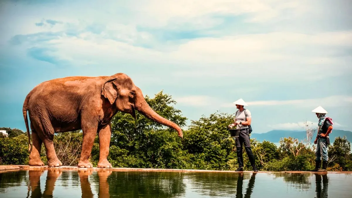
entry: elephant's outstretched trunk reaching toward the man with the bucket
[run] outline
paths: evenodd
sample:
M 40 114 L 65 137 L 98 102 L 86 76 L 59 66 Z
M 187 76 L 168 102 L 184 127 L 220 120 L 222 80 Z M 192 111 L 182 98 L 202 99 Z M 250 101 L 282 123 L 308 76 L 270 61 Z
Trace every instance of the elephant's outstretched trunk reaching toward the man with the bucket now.
M 172 129 L 175 129 L 178 132 L 178 136 L 180 136 L 181 138 L 183 138 L 183 133 L 182 133 L 182 129 L 180 128 L 180 126 L 178 126 L 177 124 L 175 124 L 174 122 L 160 116 L 158 113 L 156 113 L 149 105 L 148 103 L 145 101 L 143 96 L 138 96 L 138 103 L 136 104 L 136 110 L 138 112 L 140 112 L 143 116 L 154 120 L 155 122 L 168 126 Z

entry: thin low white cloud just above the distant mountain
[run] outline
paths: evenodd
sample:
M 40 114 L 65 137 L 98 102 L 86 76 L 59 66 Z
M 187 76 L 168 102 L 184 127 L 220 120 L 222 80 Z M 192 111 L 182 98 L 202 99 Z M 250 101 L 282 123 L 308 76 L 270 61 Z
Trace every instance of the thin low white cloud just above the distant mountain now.
M 306 129 L 316 129 L 318 126 L 318 122 L 294 122 L 294 123 L 281 123 L 281 124 L 273 124 L 268 125 L 272 129 L 277 130 L 306 130 Z M 333 126 L 337 126 L 340 128 L 342 125 L 334 122 Z

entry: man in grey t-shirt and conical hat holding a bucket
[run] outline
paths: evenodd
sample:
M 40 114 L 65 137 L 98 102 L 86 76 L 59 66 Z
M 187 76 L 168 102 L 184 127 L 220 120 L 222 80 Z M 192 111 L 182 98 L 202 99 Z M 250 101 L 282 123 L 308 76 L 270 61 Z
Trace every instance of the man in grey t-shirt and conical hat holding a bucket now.
M 251 128 L 251 112 L 247 109 L 244 109 L 244 106 L 248 106 L 247 103 L 241 98 L 237 101 L 234 101 L 233 104 L 236 105 L 238 111 L 236 111 L 234 123 L 228 125 L 229 128 L 232 128 L 236 125 L 236 129 L 240 129 L 239 137 L 236 138 L 236 150 L 237 150 L 237 161 L 238 169 L 236 171 L 243 171 L 243 156 L 242 156 L 242 145 L 246 149 L 249 161 L 253 167 L 253 171 L 257 172 L 258 169 L 255 166 L 254 155 L 251 149 L 251 143 L 249 134 L 252 132 Z

